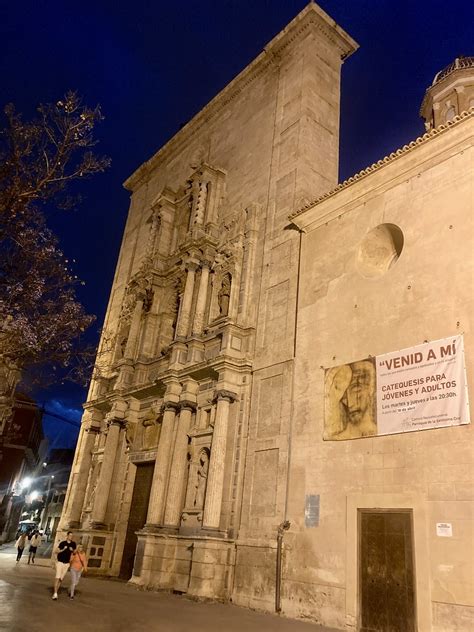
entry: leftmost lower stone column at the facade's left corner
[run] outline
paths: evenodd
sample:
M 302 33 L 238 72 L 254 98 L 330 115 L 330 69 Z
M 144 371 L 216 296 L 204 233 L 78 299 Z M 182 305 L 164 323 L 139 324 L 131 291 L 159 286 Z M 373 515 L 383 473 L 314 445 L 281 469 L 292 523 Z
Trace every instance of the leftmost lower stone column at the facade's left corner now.
M 80 526 L 81 513 L 86 496 L 87 480 L 92 462 L 92 451 L 97 433 L 100 430 L 102 415 L 98 411 L 91 411 L 83 422 L 83 439 L 80 447 L 78 470 L 71 477 L 71 491 L 67 501 L 66 516 L 63 519 L 66 528 L 77 529 Z

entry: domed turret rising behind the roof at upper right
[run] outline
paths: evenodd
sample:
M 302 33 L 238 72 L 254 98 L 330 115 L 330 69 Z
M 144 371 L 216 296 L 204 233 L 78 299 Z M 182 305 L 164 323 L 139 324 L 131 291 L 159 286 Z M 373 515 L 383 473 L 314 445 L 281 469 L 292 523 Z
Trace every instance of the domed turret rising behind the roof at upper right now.
M 440 70 L 423 98 L 420 116 L 427 130 L 474 107 L 474 57 L 456 57 Z

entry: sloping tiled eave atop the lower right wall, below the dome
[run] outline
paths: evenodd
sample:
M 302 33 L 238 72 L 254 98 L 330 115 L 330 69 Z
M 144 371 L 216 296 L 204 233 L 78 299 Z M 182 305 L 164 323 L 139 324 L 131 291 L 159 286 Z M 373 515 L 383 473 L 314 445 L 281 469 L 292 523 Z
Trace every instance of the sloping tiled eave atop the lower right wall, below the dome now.
M 389 154 L 388 156 L 385 156 L 378 162 L 374 162 L 372 165 L 370 165 L 370 167 L 366 167 L 365 169 L 362 169 L 362 171 L 359 171 L 358 173 L 351 176 L 347 180 L 344 180 L 344 182 L 341 182 L 341 184 L 338 184 L 337 187 L 335 187 L 334 189 L 331 189 L 327 193 L 324 193 L 323 195 L 320 195 L 319 197 L 317 197 L 315 200 L 308 202 L 308 204 L 305 204 L 305 206 L 303 206 L 299 210 L 289 215 L 288 219 L 290 221 L 295 220 L 298 216 L 302 215 L 303 213 L 308 211 L 310 208 L 313 208 L 314 206 L 317 206 L 318 204 L 327 200 L 328 198 L 335 196 L 337 193 L 339 193 L 343 189 L 347 189 L 348 187 L 355 184 L 356 182 L 359 182 L 360 180 L 366 178 L 367 176 L 371 175 L 375 171 L 382 169 L 383 167 L 394 162 L 401 156 L 405 156 L 406 154 L 410 153 L 411 151 L 413 151 L 420 145 L 423 145 L 431 141 L 433 138 L 446 133 L 453 127 L 459 125 L 460 123 L 462 123 L 463 121 L 469 118 L 474 118 L 474 108 L 470 108 L 468 111 L 463 112 L 462 114 L 459 114 L 458 116 L 455 116 L 452 121 L 449 121 L 449 123 L 443 123 L 442 125 L 439 125 L 438 127 L 435 127 L 434 129 L 430 130 L 429 132 L 426 132 L 425 134 L 423 134 L 423 136 L 419 136 L 415 140 L 412 140 L 407 145 L 403 145 L 403 147 L 400 147 L 400 149 L 393 151 L 391 154 Z

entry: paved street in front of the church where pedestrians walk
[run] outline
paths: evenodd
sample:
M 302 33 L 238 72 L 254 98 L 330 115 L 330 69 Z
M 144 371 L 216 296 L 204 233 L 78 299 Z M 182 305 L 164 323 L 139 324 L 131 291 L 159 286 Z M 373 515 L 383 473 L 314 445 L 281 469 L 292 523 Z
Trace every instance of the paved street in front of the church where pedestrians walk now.
M 26 553 L 26 551 L 25 551 Z M 15 562 L 0 547 L 0 630 L 8 632 L 329 632 L 328 628 L 218 603 L 144 592 L 125 582 L 81 579 L 71 601 L 66 589 L 52 601 L 54 571 L 47 559 Z M 69 586 L 66 577 L 65 586 Z

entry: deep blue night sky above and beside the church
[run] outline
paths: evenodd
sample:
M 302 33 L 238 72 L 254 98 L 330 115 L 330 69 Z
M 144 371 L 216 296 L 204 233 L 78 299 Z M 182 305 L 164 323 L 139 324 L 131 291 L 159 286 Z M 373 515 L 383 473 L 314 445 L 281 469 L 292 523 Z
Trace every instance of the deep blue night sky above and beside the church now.
M 80 298 L 103 321 L 128 211 L 122 182 L 252 61 L 306 0 L 0 0 L 1 105 L 24 117 L 77 90 L 100 103 L 99 153 L 112 167 L 84 183 L 80 208 L 55 220 L 86 282 Z M 474 54 L 474 2 L 323 0 L 360 45 L 343 66 L 340 179 L 424 132 L 425 89 L 456 56 Z M 38 394 L 79 421 L 85 389 Z M 44 419 L 52 447 L 76 431 Z

